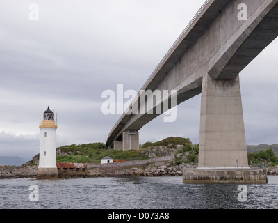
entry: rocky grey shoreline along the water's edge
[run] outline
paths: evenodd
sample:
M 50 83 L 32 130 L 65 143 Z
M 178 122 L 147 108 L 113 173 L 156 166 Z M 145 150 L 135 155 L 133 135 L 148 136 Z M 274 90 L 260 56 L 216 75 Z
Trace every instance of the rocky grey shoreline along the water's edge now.
M 181 164 L 170 166 L 170 164 L 161 165 L 156 167 L 130 167 L 122 169 L 104 169 L 93 168 L 85 171 L 85 174 L 81 175 L 82 178 L 94 178 L 94 177 L 119 177 L 119 176 L 182 176 L 183 167 L 196 168 L 189 164 Z M 32 167 L 0 167 L 0 179 L 12 179 L 12 178 L 36 178 L 38 171 L 38 165 Z M 267 168 L 268 176 L 278 176 L 278 167 Z M 71 176 L 62 178 L 74 178 Z

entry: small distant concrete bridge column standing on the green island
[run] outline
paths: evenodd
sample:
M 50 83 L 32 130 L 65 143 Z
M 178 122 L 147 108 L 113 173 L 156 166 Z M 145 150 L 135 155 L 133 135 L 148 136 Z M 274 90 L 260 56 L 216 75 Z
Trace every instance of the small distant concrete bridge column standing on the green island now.
M 123 151 L 139 149 L 139 132 L 138 130 L 125 130 L 122 133 Z

